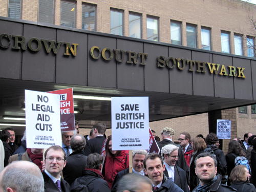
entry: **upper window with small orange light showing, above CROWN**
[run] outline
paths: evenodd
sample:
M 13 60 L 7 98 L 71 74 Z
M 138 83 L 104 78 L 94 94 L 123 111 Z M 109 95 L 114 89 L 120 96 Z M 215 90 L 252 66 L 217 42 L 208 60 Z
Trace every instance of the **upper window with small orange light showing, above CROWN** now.
M 75 27 L 76 4 L 61 1 L 60 25 L 65 27 Z

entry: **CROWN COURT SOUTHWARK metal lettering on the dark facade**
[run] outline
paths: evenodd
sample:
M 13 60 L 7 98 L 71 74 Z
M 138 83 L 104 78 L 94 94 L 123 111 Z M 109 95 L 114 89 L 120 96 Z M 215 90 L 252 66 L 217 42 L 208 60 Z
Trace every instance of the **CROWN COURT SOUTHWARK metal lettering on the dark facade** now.
M 11 46 L 12 44 L 12 46 Z M 31 52 L 38 52 L 42 48 L 45 49 L 47 53 L 53 52 L 57 54 L 61 46 L 66 47 L 66 52 L 63 53 L 65 56 L 76 56 L 77 43 L 54 41 L 48 39 L 30 38 L 26 39 L 24 36 L 0 34 L 0 48 L 2 50 L 9 49 L 12 50 L 23 50 L 29 49 Z M 90 49 L 90 55 L 93 59 L 97 60 L 100 57 L 105 61 L 110 61 L 115 59 L 117 62 L 122 62 L 124 59 L 124 54 L 127 55 L 126 63 L 132 65 L 142 65 L 146 66 L 146 59 L 148 57 L 147 53 L 139 53 L 133 51 L 125 51 L 119 49 L 110 48 L 99 48 L 98 46 L 93 46 Z M 188 70 L 189 72 L 196 72 L 204 74 L 208 70 L 210 74 L 216 74 L 228 77 L 245 78 L 245 68 L 225 66 L 218 63 L 203 62 L 197 60 L 175 58 L 175 57 L 165 57 L 158 56 L 156 58 L 156 65 L 158 68 L 167 68 L 173 70 L 177 68 L 178 70 Z

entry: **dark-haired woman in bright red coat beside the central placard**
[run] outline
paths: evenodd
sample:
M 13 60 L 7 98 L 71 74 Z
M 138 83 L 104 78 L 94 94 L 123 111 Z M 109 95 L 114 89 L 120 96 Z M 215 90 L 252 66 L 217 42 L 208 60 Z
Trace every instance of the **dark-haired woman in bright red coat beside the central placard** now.
M 129 167 L 129 151 L 112 151 L 112 136 L 109 136 L 106 140 L 105 152 L 102 175 L 112 188 L 117 173 Z

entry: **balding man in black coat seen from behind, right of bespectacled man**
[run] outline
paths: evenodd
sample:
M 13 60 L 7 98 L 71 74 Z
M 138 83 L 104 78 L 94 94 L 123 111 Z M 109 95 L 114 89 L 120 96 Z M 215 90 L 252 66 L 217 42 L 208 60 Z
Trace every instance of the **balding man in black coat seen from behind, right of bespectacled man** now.
M 63 168 L 63 177 L 71 185 L 76 178 L 82 176 L 86 168 L 87 156 L 83 154 L 86 146 L 86 139 L 81 135 L 71 137 L 70 146 L 73 153 L 67 157 L 67 164 Z

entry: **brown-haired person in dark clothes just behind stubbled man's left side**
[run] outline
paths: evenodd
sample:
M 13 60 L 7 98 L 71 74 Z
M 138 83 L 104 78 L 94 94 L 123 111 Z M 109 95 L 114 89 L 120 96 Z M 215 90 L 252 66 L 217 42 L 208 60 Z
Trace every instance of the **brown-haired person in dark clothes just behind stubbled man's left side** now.
M 206 148 L 206 143 L 203 138 L 201 137 L 196 137 L 191 141 L 192 147 L 193 147 L 193 155 L 190 159 L 190 165 L 189 165 L 189 188 L 190 191 L 192 191 L 198 184 L 199 180 L 198 177 L 195 173 L 195 159 L 196 157 L 204 152 L 204 149 Z

